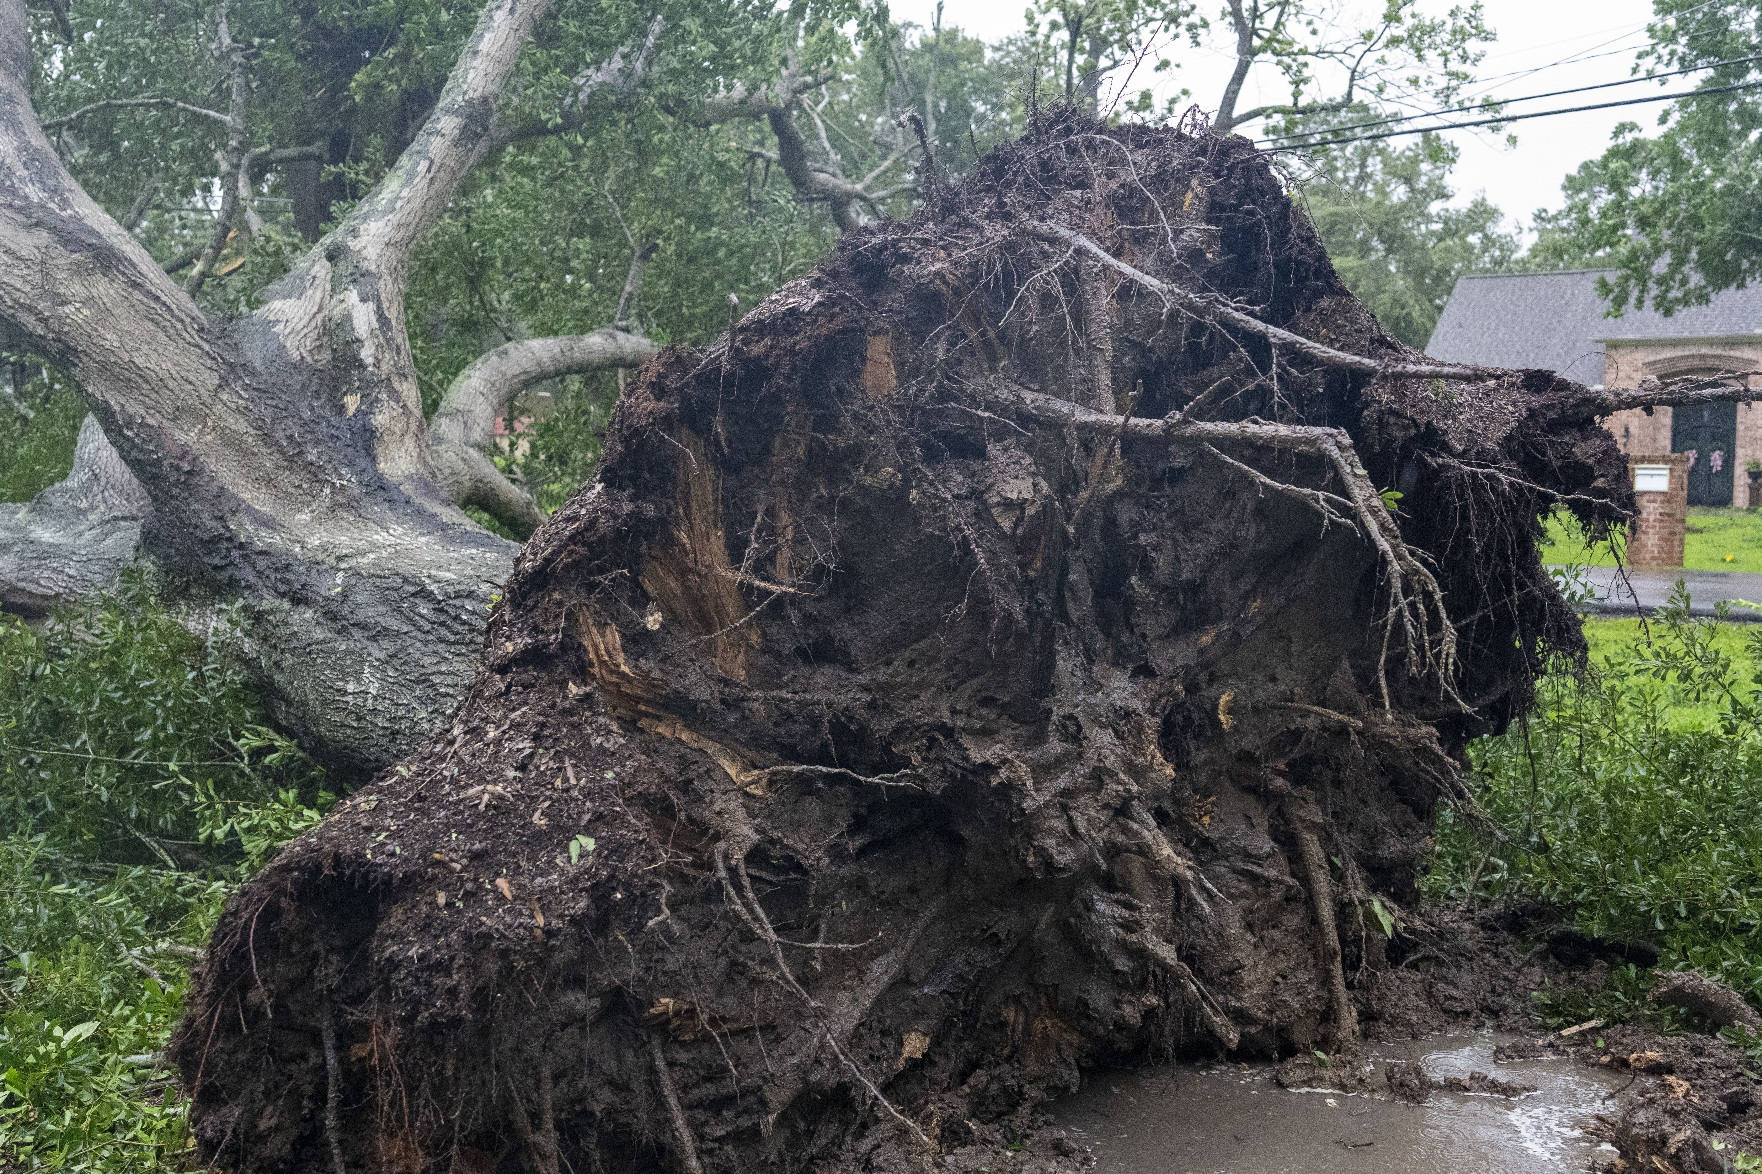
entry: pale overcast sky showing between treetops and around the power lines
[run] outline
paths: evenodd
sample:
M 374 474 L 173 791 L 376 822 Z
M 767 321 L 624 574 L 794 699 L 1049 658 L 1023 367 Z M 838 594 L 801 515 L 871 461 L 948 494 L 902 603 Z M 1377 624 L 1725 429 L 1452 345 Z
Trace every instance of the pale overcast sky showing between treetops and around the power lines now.
M 1489 46 L 1477 76 L 1484 79 L 1470 93 L 1492 93 L 1515 99 L 1549 90 L 1570 90 L 1602 81 L 1619 81 L 1633 69 L 1633 53 L 1646 46 L 1646 21 L 1651 16 L 1649 0 L 1484 0 L 1487 25 L 1499 39 Z M 936 0 L 892 0 L 895 19 L 930 23 Z M 1219 5 L 1221 7 L 1221 5 Z M 1381 0 L 1339 0 L 1343 23 L 1369 23 L 1383 7 Z M 1445 2 L 1425 0 L 1422 7 L 1443 11 Z M 1355 21 L 1357 18 L 1357 21 Z M 1022 32 L 1024 4 L 1020 0 L 950 0 L 944 23 L 959 25 L 969 35 L 985 40 Z M 1230 76 L 1232 58 L 1218 48 L 1195 51 L 1179 48 L 1177 69 L 1172 70 L 1170 90 L 1186 86 L 1193 100 L 1216 109 L 1218 95 Z M 1563 58 L 1577 58 L 1565 62 Z M 1575 93 L 1561 99 L 1519 104 L 1510 113 L 1529 109 L 1558 109 L 1610 102 L 1647 93 L 1690 88 L 1693 76 L 1672 77 L 1667 83 L 1635 83 L 1596 93 Z M 1288 100 L 1279 86 L 1279 74 L 1269 65 L 1256 67 L 1239 107 L 1262 102 Z M 1535 118 L 1510 125 L 1517 146 L 1507 148 L 1505 136 L 1473 130 L 1448 132 L 1462 148 L 1462 160 L 1452 176 L 1459 194 L 1484 190 L 1507 216 L 1526 227 L 1536 208 L 1561 204 L 1559 181 L 1586 158 L 1602 155 L 1616 123 L 1632 120 L 1651 127 L 1667 104 L 1633 106 L 1626 109 L 1586 111 Z M 1249 132 L 1253 127 L 1244 127 Z M 1403 143 L 1403 139 L 1396 139 Z

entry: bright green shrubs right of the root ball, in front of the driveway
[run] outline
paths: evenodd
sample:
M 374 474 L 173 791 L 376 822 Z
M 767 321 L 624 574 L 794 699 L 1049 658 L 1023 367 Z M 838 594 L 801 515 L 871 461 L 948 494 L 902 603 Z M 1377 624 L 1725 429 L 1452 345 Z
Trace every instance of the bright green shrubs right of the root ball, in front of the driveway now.
M 1471 745 L 1485 824 L 1440 813 L 1427 891 L 1542 899 L 1762 996 L 1762 627 L 1692 620 L 1679 584 L 1646 634 L 1538 690 L 1526 723 Z

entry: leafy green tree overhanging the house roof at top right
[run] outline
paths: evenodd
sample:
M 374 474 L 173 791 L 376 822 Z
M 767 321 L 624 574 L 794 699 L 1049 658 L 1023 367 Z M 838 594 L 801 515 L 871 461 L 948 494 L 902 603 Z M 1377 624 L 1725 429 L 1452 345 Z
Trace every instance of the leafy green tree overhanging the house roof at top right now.
M 1644 69 L 1713 67 L 1670 102 L 1658 134 L 1621 123 L 1614 144 L 1566 178 L 1565 208 L 1538 215 L 1547 255 L 1619 268 L 1610 306 L 1670 313 L 1762 276 L 1762 5 L 1655 0 Z M 1681 79 L 1672 79 L 1681 84 Z M 1723 90 L 1723 92 L 1721 92 Z

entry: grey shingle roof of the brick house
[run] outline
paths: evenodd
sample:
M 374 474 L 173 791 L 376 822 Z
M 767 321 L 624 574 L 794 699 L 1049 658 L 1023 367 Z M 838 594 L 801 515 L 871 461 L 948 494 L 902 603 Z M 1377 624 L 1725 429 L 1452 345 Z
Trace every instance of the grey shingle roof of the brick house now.
M 1605 338 L 1707 338 L 1762 334 L 1762 287 L 1714 294 L 1706 306 L 1663 317 L 1651 306 L 1619 319 L 1596 296 L 1614 269 L 1471 273 L 1455 282 L 1425 354 L 1450 363 L 1536 366 L 1581 384 L 1603 382 Z

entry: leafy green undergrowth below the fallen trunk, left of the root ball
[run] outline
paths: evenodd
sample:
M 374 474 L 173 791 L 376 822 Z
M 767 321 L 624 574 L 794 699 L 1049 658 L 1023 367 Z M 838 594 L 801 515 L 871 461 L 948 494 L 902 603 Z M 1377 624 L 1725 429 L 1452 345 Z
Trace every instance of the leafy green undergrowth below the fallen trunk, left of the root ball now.
M 139 581 L 42 632 L 0 618 L 0 1165 L 176 1160 L 159 1056 L 227 892 L 329 806 L 268 727 L 231 614 Z

